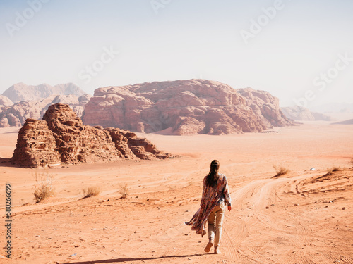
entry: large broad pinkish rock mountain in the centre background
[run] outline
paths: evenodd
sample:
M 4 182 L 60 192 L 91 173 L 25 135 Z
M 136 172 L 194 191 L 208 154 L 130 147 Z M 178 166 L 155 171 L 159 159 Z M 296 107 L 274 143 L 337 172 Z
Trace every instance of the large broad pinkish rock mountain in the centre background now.
M 292 125 L 268 92 L 210 80 L 152 82 L 95 90 L 83 122 L 164 134 L 261 132 Z

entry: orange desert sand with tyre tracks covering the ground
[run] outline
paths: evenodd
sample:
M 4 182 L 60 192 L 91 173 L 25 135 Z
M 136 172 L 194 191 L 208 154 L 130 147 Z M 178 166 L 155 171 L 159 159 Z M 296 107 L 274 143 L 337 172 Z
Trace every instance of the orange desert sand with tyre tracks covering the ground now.
M 0 263 L 353 263 L 353 171 L 325 176 L 328 168 L 352 168 L 353 125 L 329 123 L 228 136 L 147 134 L 180 157 L 47 170 L 11 167 L 18 128 L 0 129 L 1 247 L 6 182 L 13 203 L 12 260 Z M 213 159 L 233 206 L 221 255 L 205 253 L 207 237 L 183 223 L 198 210 Z M 274 177 L 273 165 L 290 172 Z M 52 175 L 55 188 L 37 204 L 36 173 Z M 128 184 L 126 199 L 121 184 Z M 101 194 L 82 199 L 92 186 Z

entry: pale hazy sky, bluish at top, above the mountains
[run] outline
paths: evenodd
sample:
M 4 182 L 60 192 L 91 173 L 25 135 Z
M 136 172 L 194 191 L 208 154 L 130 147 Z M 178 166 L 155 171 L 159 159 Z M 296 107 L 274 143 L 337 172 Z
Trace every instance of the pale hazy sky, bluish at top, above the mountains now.
M 281 106 L 353 103 L 352 14 L 352 0 L 1 0 L 0 94 L 202 78 Z

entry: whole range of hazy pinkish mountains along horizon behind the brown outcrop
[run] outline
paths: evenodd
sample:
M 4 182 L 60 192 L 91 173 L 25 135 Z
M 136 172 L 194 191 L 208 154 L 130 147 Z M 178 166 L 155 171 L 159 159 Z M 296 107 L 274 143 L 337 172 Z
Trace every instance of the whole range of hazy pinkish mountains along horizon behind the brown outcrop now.
M 353 103 L 318 107 L 321 113 L 299 106 L 279 108 L 278 99 L 268 92 L 233 89 L 210 80 L 104 87 L 91 97 L 73 83 L 13 84 L 0 95 L 0 127 L 39 120 L 54 103 L 68 104 L 87 125 L 166 134 L 261 132 L 272 125 L 290 125 L 287 118 L 332 120 L 323 109 L 353 113 Z

